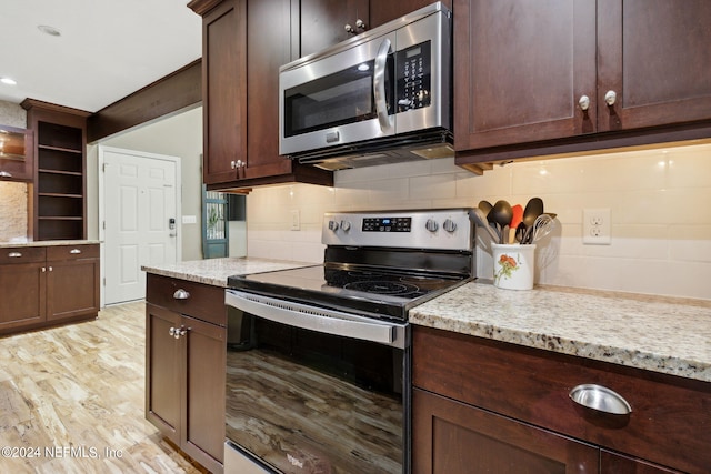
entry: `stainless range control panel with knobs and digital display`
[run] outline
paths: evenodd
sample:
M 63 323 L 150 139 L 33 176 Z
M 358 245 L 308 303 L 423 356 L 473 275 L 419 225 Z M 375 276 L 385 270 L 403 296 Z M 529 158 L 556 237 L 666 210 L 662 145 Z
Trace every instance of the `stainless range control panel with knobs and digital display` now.
M 341 212 L 323 216 L 326 245 L 403 249 L 473 249 L 469 209 L 394 212 Z

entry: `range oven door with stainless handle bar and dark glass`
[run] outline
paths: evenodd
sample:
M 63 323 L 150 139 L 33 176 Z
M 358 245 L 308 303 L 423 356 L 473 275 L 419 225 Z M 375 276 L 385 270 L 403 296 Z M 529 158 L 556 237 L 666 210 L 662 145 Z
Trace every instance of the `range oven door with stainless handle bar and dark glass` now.
M 226 303 L 226 473 L 246 460 L 267 472 L 409 471 L 407 324 L 236 290 Z

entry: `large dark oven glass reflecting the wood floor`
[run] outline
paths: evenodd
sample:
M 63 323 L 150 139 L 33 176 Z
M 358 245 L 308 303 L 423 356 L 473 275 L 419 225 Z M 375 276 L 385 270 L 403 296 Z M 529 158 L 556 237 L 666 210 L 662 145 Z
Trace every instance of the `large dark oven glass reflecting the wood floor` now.
M 236 313 L 230 441 L 284 473 L 402 473 L 404 351 Z

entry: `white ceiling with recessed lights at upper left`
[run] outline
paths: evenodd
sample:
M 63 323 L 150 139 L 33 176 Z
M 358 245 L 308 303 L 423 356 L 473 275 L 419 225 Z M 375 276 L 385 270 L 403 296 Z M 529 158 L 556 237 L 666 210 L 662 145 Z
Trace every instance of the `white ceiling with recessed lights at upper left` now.
M 96 112 L 202 56 L 188 0 L 0 0 L 0 100 Z M 38 28 L 49 26 L 61 36 Z

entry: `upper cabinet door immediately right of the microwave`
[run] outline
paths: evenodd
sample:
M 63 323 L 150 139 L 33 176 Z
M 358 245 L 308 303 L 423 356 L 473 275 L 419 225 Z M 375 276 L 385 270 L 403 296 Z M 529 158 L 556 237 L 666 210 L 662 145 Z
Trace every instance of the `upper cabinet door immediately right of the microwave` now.
M 595 131 L 594 1 L 454 0 L 453 9 L 457 150 Z

